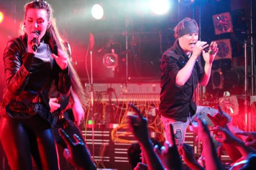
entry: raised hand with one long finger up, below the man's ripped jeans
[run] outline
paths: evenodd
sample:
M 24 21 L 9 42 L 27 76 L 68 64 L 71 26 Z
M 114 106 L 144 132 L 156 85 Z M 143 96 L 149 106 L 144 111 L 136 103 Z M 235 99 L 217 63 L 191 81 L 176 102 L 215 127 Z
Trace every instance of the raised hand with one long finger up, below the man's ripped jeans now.
M 165 141 L 164 146 L 159 148 L 158 145 L 156 145 L 154 147 L 154 150 L 166 169 L 181 170 L 182 162 L 175 143 L 173 126 L 171 125 L 171 123 L 169 124 L 169 127 L 171 132 L 171 143 Z

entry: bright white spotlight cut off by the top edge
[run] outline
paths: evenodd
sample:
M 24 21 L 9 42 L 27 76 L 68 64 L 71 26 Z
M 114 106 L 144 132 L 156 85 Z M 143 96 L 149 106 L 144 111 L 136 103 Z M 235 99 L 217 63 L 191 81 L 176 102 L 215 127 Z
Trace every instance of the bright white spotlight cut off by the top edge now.
M 151 0 L 151 9 L 156 14 L 164 14 L 170 8 L 169 0 Z

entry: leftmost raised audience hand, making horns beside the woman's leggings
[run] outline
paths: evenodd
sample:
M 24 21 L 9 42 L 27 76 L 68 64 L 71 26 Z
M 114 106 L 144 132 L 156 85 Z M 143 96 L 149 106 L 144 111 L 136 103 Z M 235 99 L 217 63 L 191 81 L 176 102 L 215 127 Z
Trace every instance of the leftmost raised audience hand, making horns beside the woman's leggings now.
M 59 134 L 68 146 L 68 149 L 64 149 L 63 155 L 72 166 L 78 168 L 78 170 L 96 170 L 89 149 L 78 135 L 74 134 L 75 142 L 72 142 L 63 129 L 59 129 Z

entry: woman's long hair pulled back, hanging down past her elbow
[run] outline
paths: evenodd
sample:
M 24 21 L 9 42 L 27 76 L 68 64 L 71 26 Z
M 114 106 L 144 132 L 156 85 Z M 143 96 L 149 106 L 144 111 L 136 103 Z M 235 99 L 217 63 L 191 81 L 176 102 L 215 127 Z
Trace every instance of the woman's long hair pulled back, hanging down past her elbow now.
M 53 17 L 53 9 L 49 3 L 43 0 L 35 0 L 29 3 L 26 3 L 24 6 L 25 16 L 26 18 L 27 10 L 28 9 L 44 9 L 46 10 L 48 20 L 51 21 L 50 27 L 46 30 L 46 33 L 44 35 L 44 42 L 50 46 L 50 49 L 52 52 L 56 55 L 57 49 L 61 49 L 66 56 L 68 55 L 68 51 L 64 46 L 64 41 L 60 36 L 60 33 L 57 28 L 56 20 Z M 24 25 L 21 25 L 21 29 L 23 31 Z M 25 34 L 25 32 L 23 32 Z M 83 86 L 81 83 L 81 80 L 78 77 L 78 74 L 76 73 L 70 58 L 68 57 L 68 69 L 71 76 L 71 86 L 72 90 L 75 92 L 75 94 L 78 96 L 83 108 L 86 108 L 86 100 L 85 100 L 85 92 L 83 90 Z

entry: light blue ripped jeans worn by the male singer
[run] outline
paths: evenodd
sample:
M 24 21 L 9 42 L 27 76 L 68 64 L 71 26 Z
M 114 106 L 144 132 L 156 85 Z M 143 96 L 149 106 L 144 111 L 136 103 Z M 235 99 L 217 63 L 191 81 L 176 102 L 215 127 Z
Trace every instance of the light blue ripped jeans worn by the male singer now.
M 164 116 L 161 116 L 162 123 L 164 125 L 164 135 L 165 139 L 170 142 L 171 141 L 171 133 L 169 128 L 169 123 L 172 124 L 173 130 L 174 130 L 174 137 L 176 139 L 176 144 L 183 143 L 185 141 L 185 133 L 187 130 L 187 127 L 190 123 L 195 122 L 195 117 L 197 116 L 201 120 L 205 120 L 208 126 L 213 126 L 212 121 L 208 116 L 206 115 L 209 113 L 211 116 L 218 112 L 217 109 L 206 107 L 206 106 L 197 106 L 196 108 L 196 114 L 192 117 L 188 117 L 186 122 L 183 121 L 177 121 L 175 119 L 166 118 Z M 231 117 L 224 113 L 225 116 L 228 117 L 228 122 L 231 121 Z

